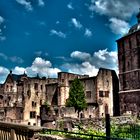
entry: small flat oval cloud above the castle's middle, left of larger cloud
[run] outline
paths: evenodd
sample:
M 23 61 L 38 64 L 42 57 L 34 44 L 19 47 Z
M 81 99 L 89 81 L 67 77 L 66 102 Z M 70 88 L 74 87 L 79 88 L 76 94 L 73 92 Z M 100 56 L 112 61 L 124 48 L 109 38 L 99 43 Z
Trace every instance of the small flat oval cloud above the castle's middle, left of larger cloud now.
M 77 58 L 80 60 L 87 60 L 91 57 L 89 53 L 86 52 L 80 52 L 80 51 L 74 51 L 70 55 L 72 58 Z

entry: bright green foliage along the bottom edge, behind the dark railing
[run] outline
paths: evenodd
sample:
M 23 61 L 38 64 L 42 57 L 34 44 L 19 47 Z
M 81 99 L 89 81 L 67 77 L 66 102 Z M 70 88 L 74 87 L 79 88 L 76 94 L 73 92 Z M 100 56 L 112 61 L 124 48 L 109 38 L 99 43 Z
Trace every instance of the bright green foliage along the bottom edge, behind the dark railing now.
M 77 134 L 52 131 L 52 135 L 59 135 L 68 138 L 82 138 L 84 140 L 94 139 L 104 139 L 105 132 L 97 131 L 92 128 L 76 130 L 74 131 Z M 46 131 L 46 134 L 50 134 L 49 131 Z M 85 135 L 87 134 L 87 135 Z M 140 126 L 137 124 L 120 124 L 120 125 L 111 125 L 111 137 L 116 139 L 133 139 L 140 140 Z

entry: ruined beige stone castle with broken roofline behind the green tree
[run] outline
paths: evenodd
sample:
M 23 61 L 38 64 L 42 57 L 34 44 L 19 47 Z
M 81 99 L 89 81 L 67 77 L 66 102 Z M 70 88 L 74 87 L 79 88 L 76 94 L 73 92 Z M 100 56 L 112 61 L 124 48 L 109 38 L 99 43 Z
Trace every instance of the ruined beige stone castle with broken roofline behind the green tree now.
M 104 117 L 106 113 L 119 115 L 119 82 L 114 70 L 100 68 L 95 77 L 59 72 L 58 78 L 29 77 L 10 71 L 0 84 L 0 120 L 39 125 L 40 107 L 46 102 L 55 110 L 55 115 L 61 117 L 75 78 L 84 86 L 88 104 L 83 112 L 85 118 Z M 67 116 L 66 111 L 63 117 Z

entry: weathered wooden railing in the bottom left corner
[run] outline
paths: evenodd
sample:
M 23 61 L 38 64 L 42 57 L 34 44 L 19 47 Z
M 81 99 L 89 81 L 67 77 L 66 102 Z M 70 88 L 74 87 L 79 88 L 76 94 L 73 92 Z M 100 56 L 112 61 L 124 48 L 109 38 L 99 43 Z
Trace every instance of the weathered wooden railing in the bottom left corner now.
M 0 140 L 38 140 L 42 128 L 0 121 Z

